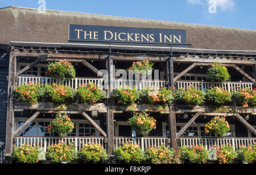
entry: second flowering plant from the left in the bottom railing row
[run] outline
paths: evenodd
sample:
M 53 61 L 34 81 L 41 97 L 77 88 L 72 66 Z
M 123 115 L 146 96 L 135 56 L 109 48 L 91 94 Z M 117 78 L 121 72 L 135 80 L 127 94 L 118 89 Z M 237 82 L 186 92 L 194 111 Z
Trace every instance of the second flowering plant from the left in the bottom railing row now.
M 47 147 L 46 158 L 51 160 L 52 163 L 66 162 L 77 159 L 77 152 L 75 143 L 65 144 L 63 140 L 59 140 L 58 144 Z

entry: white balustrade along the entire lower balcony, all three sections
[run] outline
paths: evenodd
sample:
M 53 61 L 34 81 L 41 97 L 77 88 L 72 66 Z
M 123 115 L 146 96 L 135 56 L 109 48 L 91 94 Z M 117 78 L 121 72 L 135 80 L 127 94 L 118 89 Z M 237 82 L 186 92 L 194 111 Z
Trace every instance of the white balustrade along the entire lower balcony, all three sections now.
M 105 138 L 104 137 L 67 137 L 67 138 L 57 138 L 57 137 L 27 137 L 27 136 L 18 136 L 15 138 L 16 146 L 20 146 L 23 143 L 30 143 L 31 146 L 36 145 L 43 148 L 46 151 L 48 146 L 57 144 L 59 140 L 63 140 L 65 143 L 75 142 L 76 151 L 80 150 L 83 144 L 86 143 L 97 143 L 101 144 L 102 147 L 105 147 Z M 179 138 L 179 146 L 197 146 L 203 144 L 207 150 L 214 144 L 221 146 L 222 144 L 231 144 L 233 150 L 238 150 L 239 147 L 243 144 L 248 146 L 251 143 L 256 142 L 256 138 Z M 167 137 L 114 137 L 114 146 L 119 147 L 122 143 L 133 142 L 133 144 L 139 144 L 143 151 L 146 151 L 149 146 L 159 146 L 164 144 L 166 147 L 170 147 L 170 139 Z

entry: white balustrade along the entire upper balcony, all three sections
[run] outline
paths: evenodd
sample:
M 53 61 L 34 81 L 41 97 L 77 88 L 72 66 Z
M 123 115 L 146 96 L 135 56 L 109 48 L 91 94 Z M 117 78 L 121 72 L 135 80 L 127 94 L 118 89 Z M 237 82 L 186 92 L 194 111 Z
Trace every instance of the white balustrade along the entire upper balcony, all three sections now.
M 46 76 L 18 76 L 17 83 L 18 85 L 25 82 L 33 82 L 33 83 L 56 83 L 63 84 L 65 86 L 70 86 L 72 88 L 77 88 L 79 84 L 86 84 L 88 82 L 92 82 L 96 84 L 98 87 L 104 88 L 104 79 L 100 78 L 73 78 L 73 79 L 60 79 L 60 78 L 49 78 Z M 114 87 L 133 87 L 136 86 L 138 89 L 143 88 L 157 88 L 157 87 L 166 87 L 165 80 L 119 80 L 116 79 L 114 83 Z M 176 82 L 176 89 L 187 88 L 188 86 L 197 87 L 203 91 L 206 91 L 212 87 L 224 87 L 229 92 L 237 91 L 238 89 L 243 88 L 254 88 L 254 83 L 250 82 L 225 82 L 225 83 L 214 83 L 214 82 L 199 82 L 199 81 L 183 81 L 178 80 Z

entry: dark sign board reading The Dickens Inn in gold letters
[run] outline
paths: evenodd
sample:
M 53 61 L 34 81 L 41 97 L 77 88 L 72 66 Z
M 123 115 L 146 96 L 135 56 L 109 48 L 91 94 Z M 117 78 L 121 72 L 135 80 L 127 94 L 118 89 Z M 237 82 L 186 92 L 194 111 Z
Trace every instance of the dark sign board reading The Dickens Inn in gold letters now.
M 123 42 L 137 44 L 186 45 L 183 29 L 69 25 L 69 41 Z

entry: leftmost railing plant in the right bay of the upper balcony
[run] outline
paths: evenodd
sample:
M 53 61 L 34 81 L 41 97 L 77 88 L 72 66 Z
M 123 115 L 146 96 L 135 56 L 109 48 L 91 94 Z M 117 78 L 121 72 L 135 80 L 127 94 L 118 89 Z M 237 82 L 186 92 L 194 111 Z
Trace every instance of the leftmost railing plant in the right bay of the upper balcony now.
M 174 99 L 177 103 L 185 105 L 200 105 L 204 103 L 205 93 L 196 87 L 189 86 L 188 88 L 181 88 L 177 90 Z

